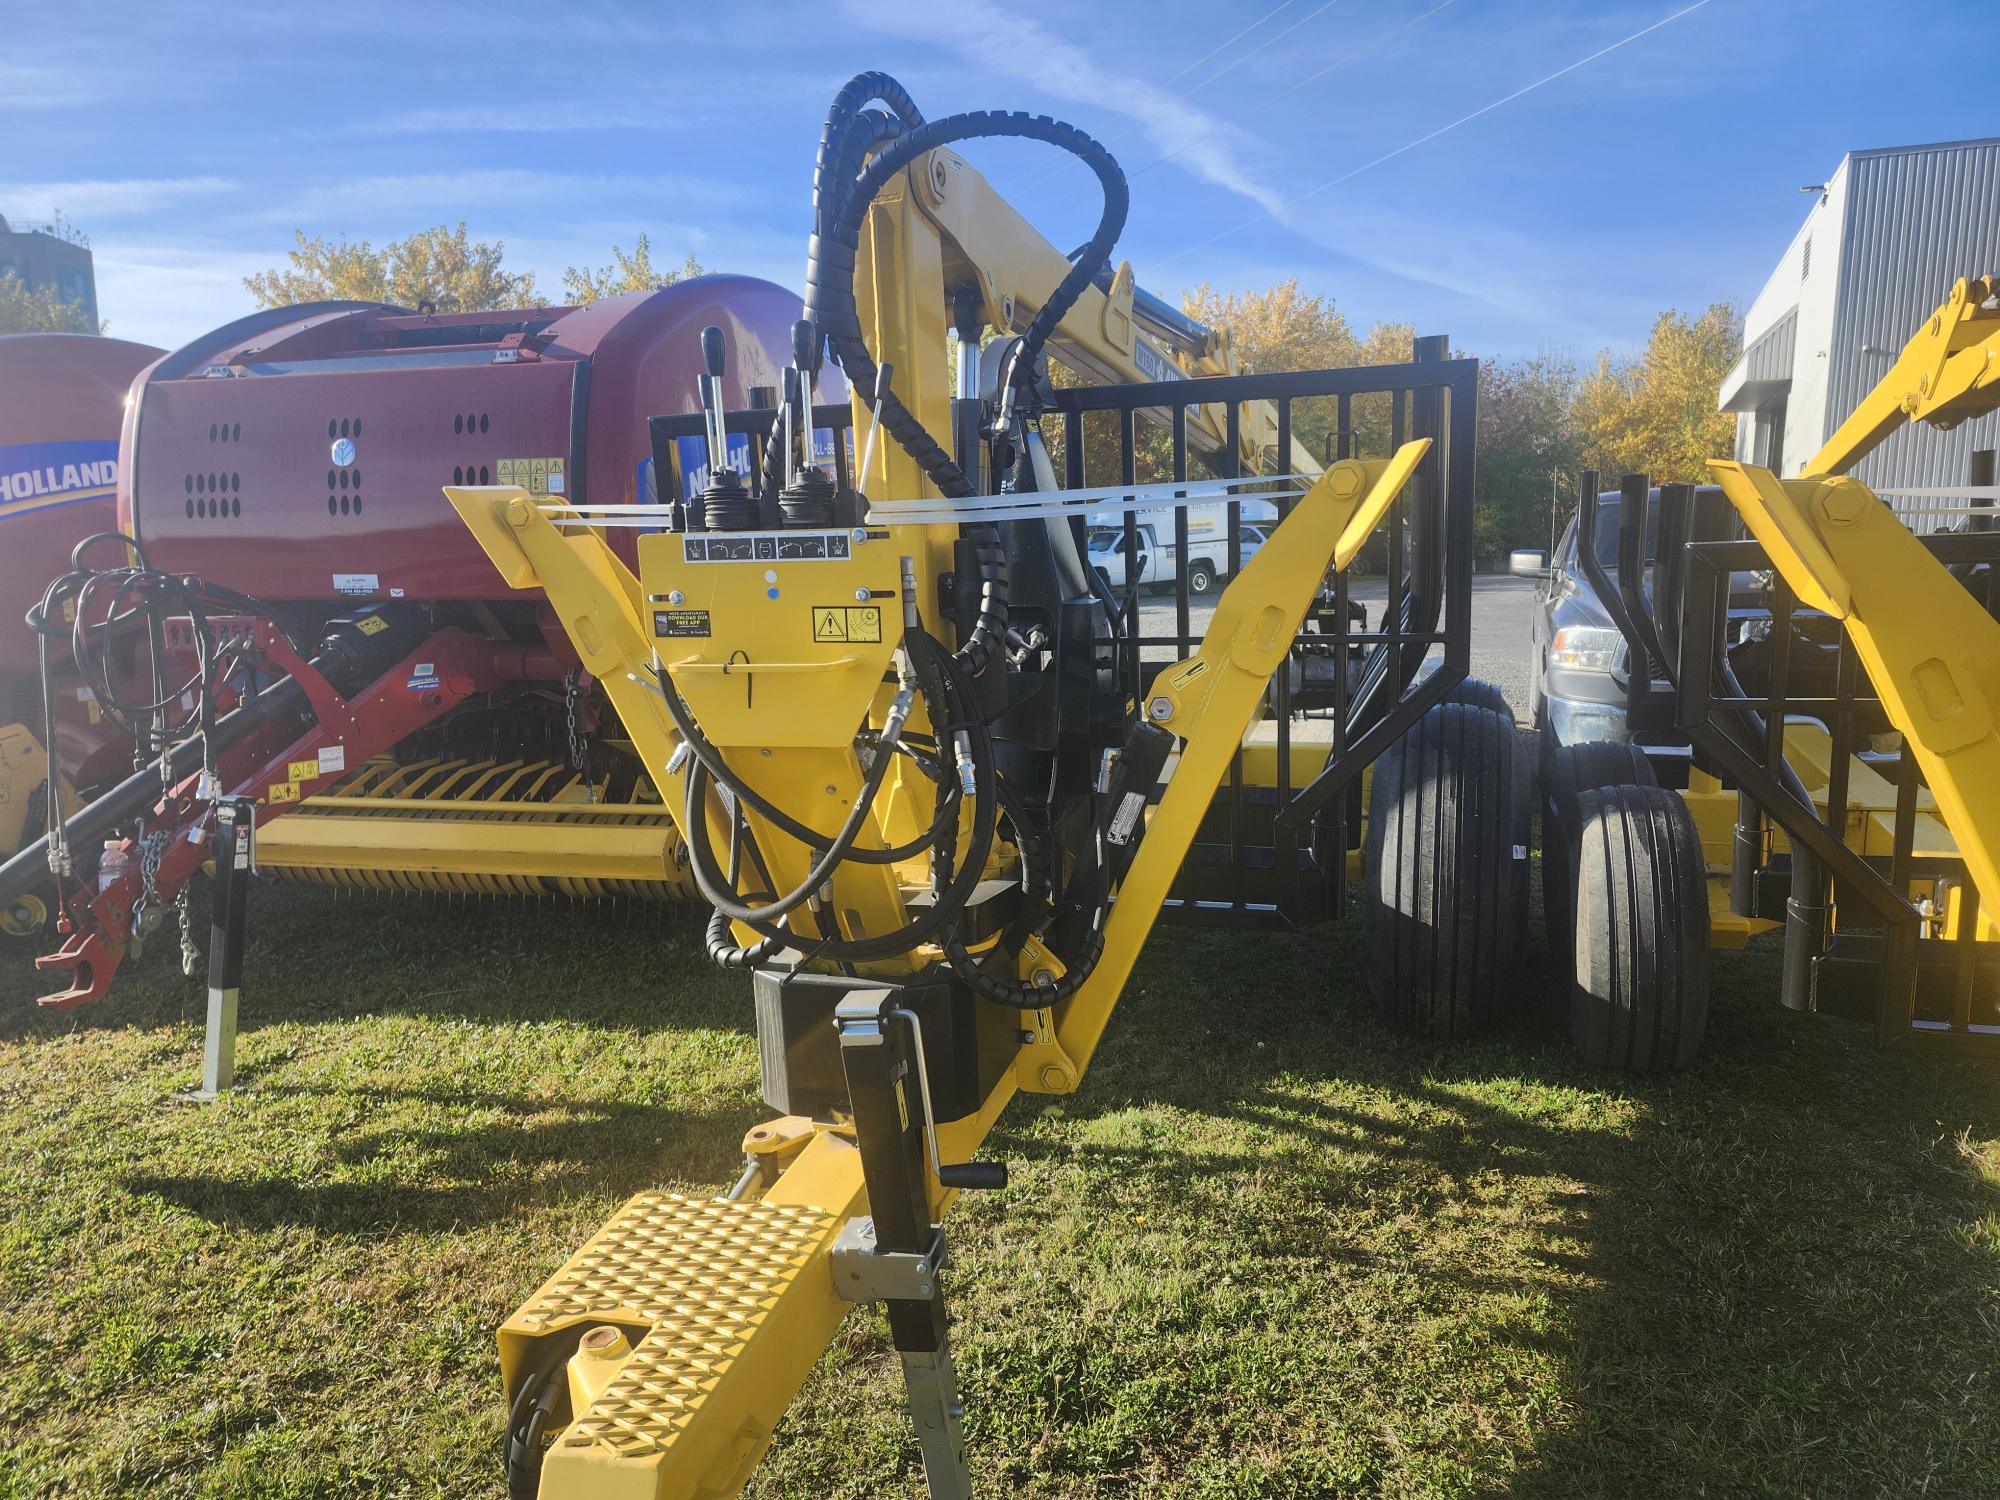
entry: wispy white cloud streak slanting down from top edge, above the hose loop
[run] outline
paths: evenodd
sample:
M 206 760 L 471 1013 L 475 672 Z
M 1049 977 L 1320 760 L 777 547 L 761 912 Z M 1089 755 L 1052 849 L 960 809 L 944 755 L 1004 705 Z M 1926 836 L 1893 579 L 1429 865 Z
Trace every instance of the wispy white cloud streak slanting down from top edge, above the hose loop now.
M 982 70 L 1018 78 L 1054 98 L 1122 114 L 1162 154 L 1206 182 L 1248 198 L 1268 214 L 1284 208 L 1284 194 L 1244 166 L 1242 146 L 1250 138 L 1242 130 L 1178 94 L 1106 68 L 1094 54 L 1018 12 L 1002 12 L 986 0 L 950 6 L 932 0 L 846 0 L 844 14 L 856 26 L 952 48 Z

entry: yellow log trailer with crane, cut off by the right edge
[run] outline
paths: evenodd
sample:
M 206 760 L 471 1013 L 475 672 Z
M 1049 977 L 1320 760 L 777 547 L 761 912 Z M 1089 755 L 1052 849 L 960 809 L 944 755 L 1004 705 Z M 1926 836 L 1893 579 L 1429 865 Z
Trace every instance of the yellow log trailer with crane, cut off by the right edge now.
M 1550 938 L 1588 1058 L 1692 1058 L 1702 940 L 1776 926 L 1788 1006 L 1866 1018 L 1890 1044 L 2000 1040 L 1994 456 L 1922 496 L 1958 504 L 1914 514 L 1848 476 L 1904 424 L 1996 408 L 2000 282 L 1962 280 L 1798 478 L 1736 462 L 1710 464 L 1714 486 L 1626 476 L 1616 576 L 1584 476 L 1578 556 L 1624 636 L 1626 720 L 1692 748 L 1678 796 L 1636 746 L 1544 758 L 1548 908 L 1574 916 Z M 1920 536 L 1926 518 L 1948 524 Z

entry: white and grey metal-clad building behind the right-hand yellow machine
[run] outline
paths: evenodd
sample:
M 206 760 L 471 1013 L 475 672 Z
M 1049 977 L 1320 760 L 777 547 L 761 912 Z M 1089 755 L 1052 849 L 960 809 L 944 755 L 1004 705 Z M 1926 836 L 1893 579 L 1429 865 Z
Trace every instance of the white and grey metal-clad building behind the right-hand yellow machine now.
M 1720 400 L 1738 414 L 1736 456 L 1798 474 L 1952 282 L 1988 272 L 2000 272 L 2000 138 L 1844 156 L 1744 318 Z M 1952 432 L 1904 428 L 1854 472 L 1876 488 L 1964 484 L 1978 448 L 2000 448 L 2000 412 Z

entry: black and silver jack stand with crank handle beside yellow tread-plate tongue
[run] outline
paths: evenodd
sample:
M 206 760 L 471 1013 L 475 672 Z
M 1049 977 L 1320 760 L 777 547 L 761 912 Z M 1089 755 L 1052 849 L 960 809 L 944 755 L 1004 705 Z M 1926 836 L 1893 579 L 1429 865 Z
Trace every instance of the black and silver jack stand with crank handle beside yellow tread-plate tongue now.
M 834 1008 L 872 1210 L 872 1218 L 848 1220 L 840 1232 L 832 1254 L 834 1286 L 854 1302 L 886 1304 L 930 1500 L 970 1500 L 966 1408 L 958 1400 L 938 1274 L 944 1230 L 930 1222 L 924 1170 L 928 1166 L 948 1188 L 1002 1188 L 1006 1166 L 938 1162 L 922 1024 L 886 988 L 856 990 Z

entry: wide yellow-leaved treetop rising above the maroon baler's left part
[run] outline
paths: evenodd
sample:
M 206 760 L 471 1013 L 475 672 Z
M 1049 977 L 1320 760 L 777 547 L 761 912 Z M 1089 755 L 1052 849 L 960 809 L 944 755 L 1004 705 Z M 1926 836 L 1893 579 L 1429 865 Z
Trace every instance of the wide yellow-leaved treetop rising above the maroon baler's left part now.
M 534 274 L 506 270 L 506 246 L 500 240 L 470 240 L 464 220 L 456 230 L 440 224 L 390 240 L 380 250 L 368 240 L 328 240 L 304 230 L 296 230 L 294 238 L 288 268 L 244 278 L 260 308 L 354 300 L 488 312 L 536 300 Z

